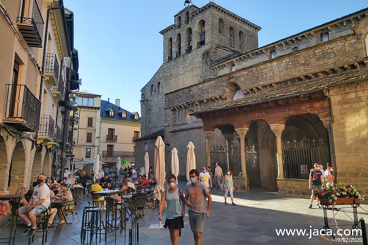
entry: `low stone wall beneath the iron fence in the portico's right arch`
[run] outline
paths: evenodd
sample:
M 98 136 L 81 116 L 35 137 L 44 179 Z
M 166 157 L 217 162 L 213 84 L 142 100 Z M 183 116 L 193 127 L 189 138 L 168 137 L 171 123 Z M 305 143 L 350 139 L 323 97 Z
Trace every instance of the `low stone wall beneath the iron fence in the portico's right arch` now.
M 308 180 L 277 179 L 279 194 L 282 195 L 310 195 Z

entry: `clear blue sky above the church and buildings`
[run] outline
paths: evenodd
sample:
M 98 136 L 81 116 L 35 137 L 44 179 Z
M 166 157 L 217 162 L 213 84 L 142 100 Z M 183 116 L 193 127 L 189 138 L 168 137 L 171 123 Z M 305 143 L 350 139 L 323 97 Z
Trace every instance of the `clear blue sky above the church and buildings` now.
M 202 7 L 209 0 L 192 0 Z M 365 1 L 214 0 L 223 8 L 261 26 L 259 47 L 368 7 Z M 74 12 L 74 47 L 79 54 L 81 91 L 120 99 L 127 111 L 141 107 L 141 88 L 163 61 L 158 32 L 174 24 L 184 0 L 64 0 Z

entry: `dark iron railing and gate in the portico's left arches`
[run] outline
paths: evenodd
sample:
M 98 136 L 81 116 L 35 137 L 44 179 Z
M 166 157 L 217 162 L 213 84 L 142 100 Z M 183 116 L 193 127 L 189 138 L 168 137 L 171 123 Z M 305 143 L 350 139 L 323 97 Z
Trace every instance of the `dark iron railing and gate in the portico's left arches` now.
M 211 148 L 211 169 L 215 173 L 216 162 L 219 163 L 225 174 L 226 169 L 233 172 L 233 176 L 241 177 L 241 154 L 240 148 L 231 146 L 230 151 L 227 147 Z M 228 158 L 229 154 L 229 158 Z M 229 159 L 229 161 L 228 161 Z M 261 176 L 259 170 L 258 152 L 254 145 L 245 148 L 245 164 L 247 168 L 248 187 L 250 190 L 261 188 Z

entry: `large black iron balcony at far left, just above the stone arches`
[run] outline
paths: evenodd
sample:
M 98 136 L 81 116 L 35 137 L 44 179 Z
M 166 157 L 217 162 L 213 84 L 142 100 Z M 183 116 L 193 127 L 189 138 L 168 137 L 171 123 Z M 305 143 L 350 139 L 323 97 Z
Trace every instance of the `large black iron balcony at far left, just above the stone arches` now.
M 37 132 L 41 101 L 25 85 L 5 84 L 7 99 L 3 123 L 20 131 Z

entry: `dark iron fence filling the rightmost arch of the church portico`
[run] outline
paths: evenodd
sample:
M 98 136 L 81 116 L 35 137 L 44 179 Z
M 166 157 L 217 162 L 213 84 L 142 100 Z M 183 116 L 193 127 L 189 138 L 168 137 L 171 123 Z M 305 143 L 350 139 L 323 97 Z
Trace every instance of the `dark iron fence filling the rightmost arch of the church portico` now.
M 323 164 L 331 162 L 330 148 L 320 138 L 307 142 L 282 142 L 282 159 L 285 179 L 309 179 L 309 172 L 314 168 L 314 163 Z

